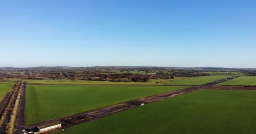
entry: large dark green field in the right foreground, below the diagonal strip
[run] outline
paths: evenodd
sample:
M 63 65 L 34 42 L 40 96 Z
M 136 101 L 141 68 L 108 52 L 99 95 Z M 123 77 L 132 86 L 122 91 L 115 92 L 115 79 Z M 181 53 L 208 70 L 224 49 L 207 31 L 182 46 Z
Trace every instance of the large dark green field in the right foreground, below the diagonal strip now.
M 255 90 L 198 90 L 55 134 L 255 134 Z

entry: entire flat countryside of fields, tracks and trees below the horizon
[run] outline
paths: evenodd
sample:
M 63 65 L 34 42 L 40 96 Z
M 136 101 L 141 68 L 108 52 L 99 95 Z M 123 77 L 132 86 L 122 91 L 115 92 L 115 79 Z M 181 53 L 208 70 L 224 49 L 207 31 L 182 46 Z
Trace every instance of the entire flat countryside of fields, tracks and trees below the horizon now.
M 57 74 L 55 78 L 40 77 L 43 72 L 37 72 L 38 74 L 31 77 L 20 73 L 19 77 L 5 78 L 0 82 L 0 86 L 9 87 L 5 88 L 4 97 L 7 101 L 4 101 L 3 106 L 12 109 L 13 105 L 18 109 L 15 119 L 15 116 L 11 116 L 11 110 L 8 112 L 2 108 L 5 118 L 0 120 L 0 123 L 3 122 L 1 128 L 5 130 L 0 130 L 10 132 L 17 128 L 13 131 L 14 134 L 21 134 L 23 131 L 58 134 L 76 134 L 83 131 L 88 134 L 104 132 L 198 134 L 211 131 L 212 134 L 224 134 L 226 129 L 235 126 L 237 129 L 246 129 L 244 134 L 252 134 L 255 131 L 250 126 L 253 125 L 253 120 L 250 120 L 253 119 L 251 113 L 255 112 L 252 107 L 255 101 L 253 95 L 256 93 L 254 92 L 256 88 L 253 84 L 256 77 L 250 76 L 253 71 L 232 72 L 243 74 L 239 76 L 209 76 L 210 70 L 155 71 L 149 68 L 144 72 L 157 73 L 131 75 L 122 72 L 103 74 L 101 78 L 95 77 L 98 80 L 75 80 L 83 79 L 80 69 L 75 71 L 76 69 L 74 68 L 72 72 L 77 74 L 74 75 L 76 77 L 69 77 L 72 80 L 62 77 L 72 76 L 70 72 L 66 74 L 65 69 L 62 69 L 61 75 L 58 75 L 59 73 L 56 72 L 59 72 L 59 69 L 54 68 L 51 70 Z M 90 73 L 91 70 L 90 68 Z M 95 70 L 106 72 L 105 69 Z M 23 72 L 22 69 L 17 71 Z M 214 70 L 213 73 L 217 73 L 216 71 L 218 72 Z M 219 74 L 223 71 L 221 70 Z M 8 74 L 10 76 L 17 75 L 14 73 L 16 70 L 9 72 L 11 72 Z M 230 74 L 229 71 L 224 73 Z M 88 72 L 85 76 L 88 76 L 87 74 Z M 49 76 L 54 75 L 49 74 Z M 57 78 L 59 76 L 60 79 Z M 103 76 L 113 76 L 113 78 L 107 81 L 108 78 Z M 126 78 L 122 79 L 122 77 Z M 137 80 L 140 82 L 135 82 Z M 227 85 L 227 82 L 234 83 L 234 86 L 222 86 Z M 240 86 L 237 86 L 237 83 Z M 7 91 L 10 90 L 13 92 L 8 92 L 7 95 Z M 14 103 L 14 100 L 20 103 Z M 240 113 L 244 113 L 243 116 L 238 116 Z M 10 122 L 8 115 L 11 117 Z M 244 121 L 247 122 L 242 125 L 240 122 Z M 184 122 L 187 122 L 186 125 Z M 13 128 L 7 129 L 12 124 Z M 196 129 L 192 124 L 198 124 Z M 101 129 L 96 129 L 98 126 L 101 126 Z M 185 129 L 182 129 L 184 126 Z M 220 126 L 225 129 L 216 129 Z M 243 134 L 235 129 L 229 131 L 230 133 L 227 134 L 234 132 Z

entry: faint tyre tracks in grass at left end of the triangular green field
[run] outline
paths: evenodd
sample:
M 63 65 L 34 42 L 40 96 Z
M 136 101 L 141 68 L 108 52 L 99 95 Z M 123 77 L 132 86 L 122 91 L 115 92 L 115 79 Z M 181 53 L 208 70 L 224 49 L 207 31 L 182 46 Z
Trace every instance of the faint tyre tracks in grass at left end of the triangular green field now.
M 30 122 L 39 122 L 40 121 L 40 102 L 38 100 L 38 96 L 34 87 L 29 88 L 28 95 L 29 95 L 28 101 L 30 101 L 32 108 L 29 108 L 31 109 L 30 111 L 28 111 L 28 113 L 30 113 L 28 118 L 30 121 L 26 124 L 29 124 Z

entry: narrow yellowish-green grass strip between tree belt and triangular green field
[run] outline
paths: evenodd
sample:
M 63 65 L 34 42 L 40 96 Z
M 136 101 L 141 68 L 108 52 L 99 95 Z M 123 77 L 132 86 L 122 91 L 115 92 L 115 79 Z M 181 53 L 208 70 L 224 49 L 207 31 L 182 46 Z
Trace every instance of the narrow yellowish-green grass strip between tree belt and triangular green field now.
M 73 85 L 163 85 L 152 82 L 110 82 L 93 80 L 23 80 L 31 84 L 73 84 Z

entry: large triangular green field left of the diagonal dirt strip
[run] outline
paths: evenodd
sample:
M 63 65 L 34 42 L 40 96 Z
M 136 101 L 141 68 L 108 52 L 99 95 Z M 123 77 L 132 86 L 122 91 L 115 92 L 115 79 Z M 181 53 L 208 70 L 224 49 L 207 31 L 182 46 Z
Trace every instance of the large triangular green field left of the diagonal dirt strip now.
M 27 85 L 26 124 L 187 87 L 128 85 Z

